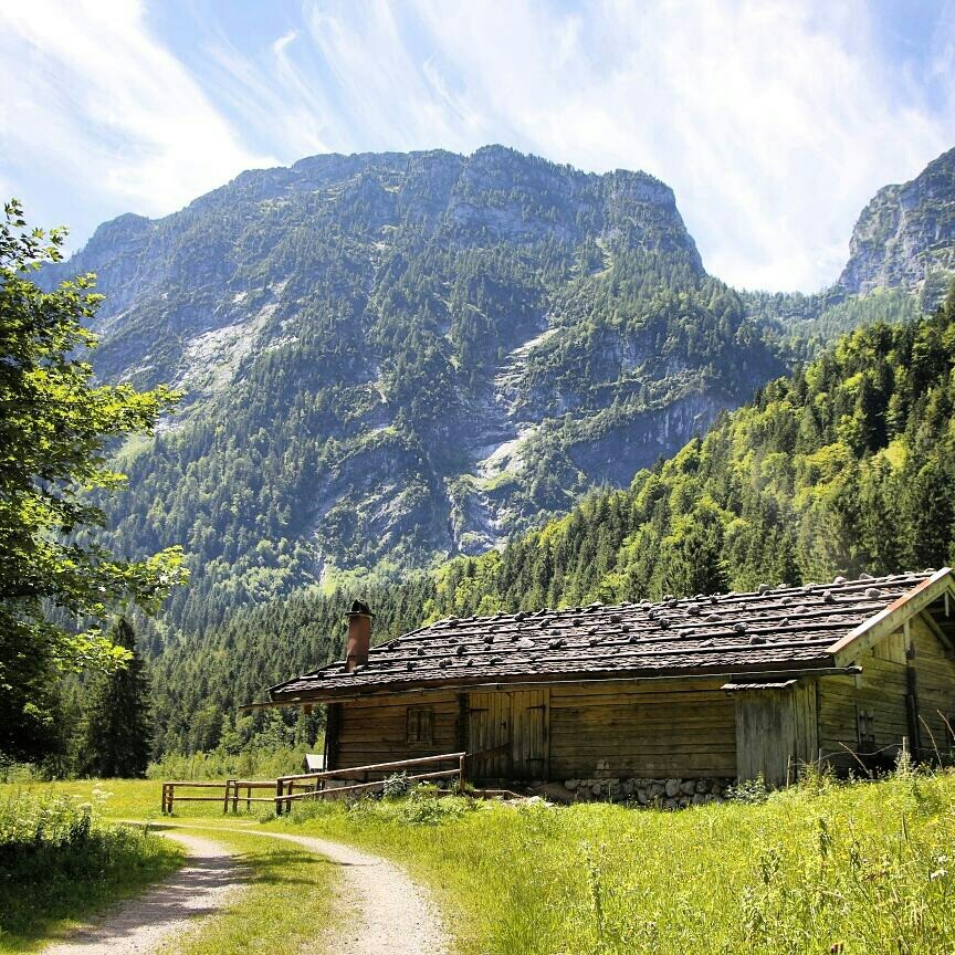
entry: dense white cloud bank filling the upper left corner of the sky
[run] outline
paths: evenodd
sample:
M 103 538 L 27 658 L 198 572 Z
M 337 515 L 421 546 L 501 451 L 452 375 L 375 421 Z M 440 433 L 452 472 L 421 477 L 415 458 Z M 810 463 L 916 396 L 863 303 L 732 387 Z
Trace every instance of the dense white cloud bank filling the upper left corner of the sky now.
M 161 214 L 275 161 L 242 146 L 138 2 L 7 3 L 0 28 L 4 165 Z

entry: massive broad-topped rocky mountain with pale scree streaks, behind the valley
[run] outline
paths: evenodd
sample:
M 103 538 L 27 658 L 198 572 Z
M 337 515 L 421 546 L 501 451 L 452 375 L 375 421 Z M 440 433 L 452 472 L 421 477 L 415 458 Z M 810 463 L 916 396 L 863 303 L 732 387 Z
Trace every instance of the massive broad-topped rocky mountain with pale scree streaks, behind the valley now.
M 98 372 L 187 392 L 119 452 L 113 528 L 134 552 L 183 545 L 187 628 L 486 552 L 626 486 L 848 295 L 741 297 L 664 183 L 499 146 L 244 172 L 105 223 L 42 281 L 84 271 L 107 296 Z

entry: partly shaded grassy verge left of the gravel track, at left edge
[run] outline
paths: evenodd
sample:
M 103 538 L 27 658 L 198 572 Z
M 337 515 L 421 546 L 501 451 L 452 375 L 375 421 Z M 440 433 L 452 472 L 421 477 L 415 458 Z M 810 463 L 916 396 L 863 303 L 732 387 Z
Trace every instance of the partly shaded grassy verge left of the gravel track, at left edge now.
M 92 802 L 0 794 L 0 953 L 39 947 L 181 861 L 171 843 L 106 825 Z

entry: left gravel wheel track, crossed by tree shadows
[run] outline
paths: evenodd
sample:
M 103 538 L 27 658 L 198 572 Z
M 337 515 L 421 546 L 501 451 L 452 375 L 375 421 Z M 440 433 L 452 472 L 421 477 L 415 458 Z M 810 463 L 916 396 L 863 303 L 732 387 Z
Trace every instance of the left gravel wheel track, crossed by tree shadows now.
M 104 912 L 91 925 L 42 949 L 43 955 L 132 955 L 155 952 L 195 920 L 214 915 L 244 886 L 229 850 L 180 830 L 157 835 L 186 847 L 189 861 L 144 895 Z

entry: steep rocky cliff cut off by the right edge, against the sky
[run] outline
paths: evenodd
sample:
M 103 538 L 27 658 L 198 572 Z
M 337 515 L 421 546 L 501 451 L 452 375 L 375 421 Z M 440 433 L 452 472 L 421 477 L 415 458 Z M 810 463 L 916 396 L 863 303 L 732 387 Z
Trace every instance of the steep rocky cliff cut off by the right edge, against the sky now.
M 923 291 L 937 302 L 955 272 L 955 149 L 902 186 L 885 186 L 862 210 L 839 285 Z

